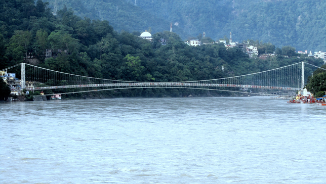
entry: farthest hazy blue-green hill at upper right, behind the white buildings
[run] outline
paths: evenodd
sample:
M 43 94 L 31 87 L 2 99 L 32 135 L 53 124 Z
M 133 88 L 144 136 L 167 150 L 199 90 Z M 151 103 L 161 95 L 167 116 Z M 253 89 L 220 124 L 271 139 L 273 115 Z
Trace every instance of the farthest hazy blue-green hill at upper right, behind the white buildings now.
M 128 0 L 127 0 L 128 1 Z M 252 39 L 297 50 L 326 49 L 326 1 L 320 0 L 141 0 L 143 9 L 179 22 L 188 34 L 214 40 Z

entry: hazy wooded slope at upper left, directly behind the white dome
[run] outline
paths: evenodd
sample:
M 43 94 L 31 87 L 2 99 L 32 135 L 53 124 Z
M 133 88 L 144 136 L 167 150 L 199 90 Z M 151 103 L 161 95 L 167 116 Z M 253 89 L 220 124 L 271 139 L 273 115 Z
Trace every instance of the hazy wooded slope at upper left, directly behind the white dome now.
M 49 7 L 53 9 L 54 0 L 44 1 L 48 1 Z M 108 20 L 117 31 L 144 32 L 149 30 L 156 33 L 170 29 L 170 22 L 167 20 L 158 18 L 125 0 L 57 0 L 58 9 L 64 6 L 68 9 L 72 8 L 75 14 L 81 17 Z M 175 31 L 183 33 L 179 28 Z

